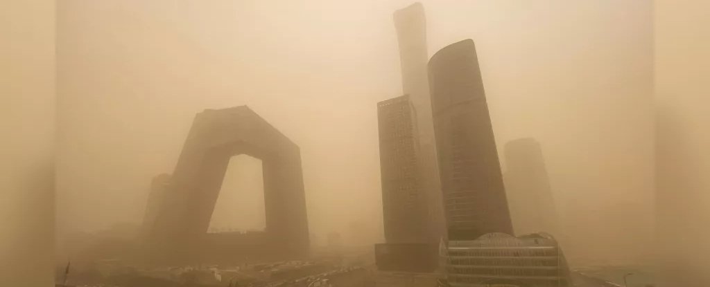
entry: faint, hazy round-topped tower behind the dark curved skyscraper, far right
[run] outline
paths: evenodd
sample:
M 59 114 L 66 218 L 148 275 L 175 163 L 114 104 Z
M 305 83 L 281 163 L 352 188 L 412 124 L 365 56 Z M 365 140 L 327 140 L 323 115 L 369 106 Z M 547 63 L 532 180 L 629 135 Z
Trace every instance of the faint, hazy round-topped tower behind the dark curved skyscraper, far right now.
M 557 211 L 540 143 L 533 138 L 506 144 L 508 203 L 517 234 L 557 235 Z

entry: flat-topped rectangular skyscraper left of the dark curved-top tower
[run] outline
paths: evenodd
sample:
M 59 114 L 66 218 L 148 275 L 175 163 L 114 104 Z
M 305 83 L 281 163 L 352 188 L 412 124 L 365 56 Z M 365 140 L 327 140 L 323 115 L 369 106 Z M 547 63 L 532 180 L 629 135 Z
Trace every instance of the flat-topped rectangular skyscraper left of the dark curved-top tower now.
M 410 96 L 377 105 L 385 244 L 375 244 L 380 271 L 431 272 L 430 202 L 422 179 L 416 111 Z

